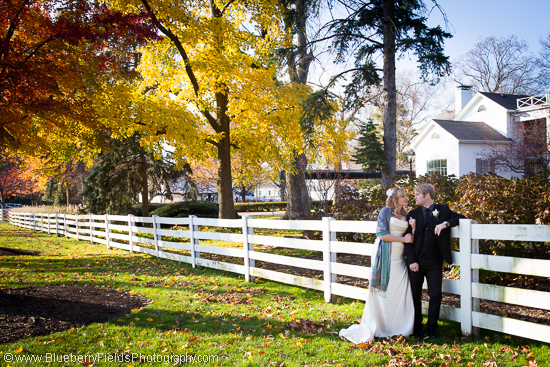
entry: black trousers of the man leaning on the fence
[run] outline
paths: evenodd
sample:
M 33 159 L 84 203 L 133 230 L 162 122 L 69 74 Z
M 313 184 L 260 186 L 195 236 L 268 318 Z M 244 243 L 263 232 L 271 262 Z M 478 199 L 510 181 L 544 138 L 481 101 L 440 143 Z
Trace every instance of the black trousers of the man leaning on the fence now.
M 428 335 L 435 335 L 437 331 L 437 320 L 439 319 L 439 309 L 441 308 L 443 283 L 443 260 L 441 258 L 426 260 L 418 259 L 419 270 L 411 271 L 409 269 L 409 278 L 414 303 L 414 334 L 422 335 L 422 285 L 424 278 L 428 283 L 428 296 L 430 296 L 428 309 Z

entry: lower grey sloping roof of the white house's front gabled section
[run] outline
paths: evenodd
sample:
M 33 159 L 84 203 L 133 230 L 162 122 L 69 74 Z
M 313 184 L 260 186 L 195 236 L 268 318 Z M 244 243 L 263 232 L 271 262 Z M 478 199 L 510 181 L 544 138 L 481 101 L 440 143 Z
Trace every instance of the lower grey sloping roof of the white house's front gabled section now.
M 459 141 L 512 141 L 484 122 L 433 120 Z

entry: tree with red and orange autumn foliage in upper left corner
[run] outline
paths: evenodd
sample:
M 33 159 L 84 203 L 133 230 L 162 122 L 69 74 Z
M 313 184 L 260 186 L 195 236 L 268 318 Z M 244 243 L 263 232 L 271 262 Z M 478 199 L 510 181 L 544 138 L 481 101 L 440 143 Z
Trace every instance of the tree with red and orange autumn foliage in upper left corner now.
M 143 19 L 85 0 L 0 0 L 0 145 L 51 154 L 59 140 L 93 140 L 90 98 L 124 66 L 117 45 L 158 38 Z

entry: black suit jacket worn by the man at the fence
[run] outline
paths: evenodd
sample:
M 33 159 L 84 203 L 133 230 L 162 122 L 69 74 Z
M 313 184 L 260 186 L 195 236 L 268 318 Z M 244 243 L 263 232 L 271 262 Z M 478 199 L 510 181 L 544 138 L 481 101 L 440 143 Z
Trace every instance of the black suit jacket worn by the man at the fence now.
M 437 242 L 437 246 L 439 247 L 439 252 L 441 253 L 441 257 L 443 257 L 443 260 L 445 260 L 448 264 L 452 264 L 451 227 L 456 227 L 459 223 L 459 219 L 466 219 L 466 217 L 462 214 L 453 212 L 447 205 L 435 204 L 434 211 L 436 209 L 439 211 L 439 215 L 437 218 L 433 217 L 430 220 L 430 223 L 428 224 L 428 231 L 435 231 L 435 226 L 440 223 L 449 223 L 450 226 L 442 230 L 439 236 L 434 235 L 434 238 Z M 422 246 L 422 235 L 418 232 L 419 230 L 422 231 L 425 225 L 422 207 L 411 210 L 409 214 L 407 214 L 407 221 L 409 218 L 414 218 L 416 220 L 416 235 L 414 236 L 414 242 L 405 244 L 405 258 L 407 264 L 411 265 L 418 262 L 417 257 Z M 412 228 L 409 226 L 405 233 L 412 233 Z

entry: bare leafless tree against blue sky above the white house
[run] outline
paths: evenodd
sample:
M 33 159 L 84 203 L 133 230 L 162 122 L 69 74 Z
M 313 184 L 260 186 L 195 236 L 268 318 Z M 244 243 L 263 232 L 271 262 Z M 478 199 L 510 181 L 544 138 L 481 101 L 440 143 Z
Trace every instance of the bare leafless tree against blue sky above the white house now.
M 487 37 L 475 44 L 456 64 L 462 84 L 476 90 L 506 94 L 541 93 L 539 67 L 529 46 L 516 36 Z

